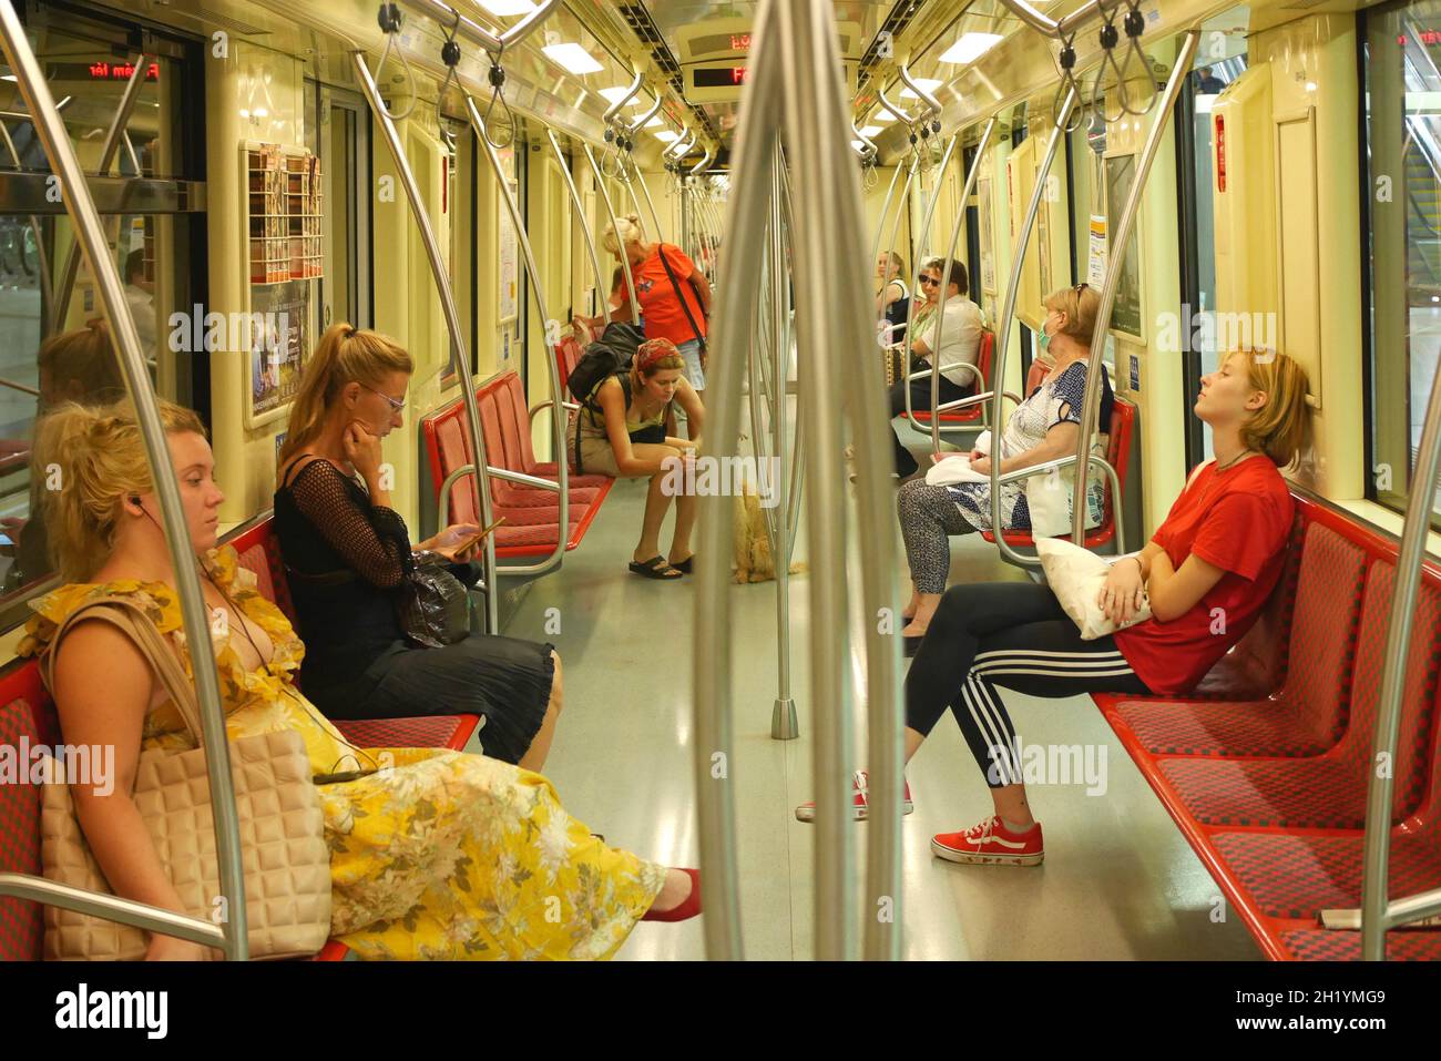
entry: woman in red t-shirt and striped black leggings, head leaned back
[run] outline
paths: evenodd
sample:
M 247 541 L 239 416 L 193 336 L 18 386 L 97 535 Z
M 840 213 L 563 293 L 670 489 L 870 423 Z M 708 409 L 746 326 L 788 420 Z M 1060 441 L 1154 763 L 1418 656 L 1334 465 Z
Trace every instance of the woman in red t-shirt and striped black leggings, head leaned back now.
M 1277 469 L 1308 445 L 1306 388 L 1301 366 L 1271 352 L 1232 353 L 1200 381 L 1195 411 L 1212 428 L 1216 458 L 1196 469 L 1147 546 L 1115 561 L 1099 592 L 1120 623 L 1136 614 L 1144 587 L 1144 623 L 1082 642 L 1046 585 L 947 590 L 906 675 L 905 757 L 950 708 L 996 810 L 965 832 L 935 836 L 932 852 L 1010 865 L 1038 865 L 1045 853 L 997 686 L 1042 698 L 1183 693 L 1251 629 L 1285 562 L 1293 505 Z M 856 817 L 866 813 L 863 784 L 857 778 Z

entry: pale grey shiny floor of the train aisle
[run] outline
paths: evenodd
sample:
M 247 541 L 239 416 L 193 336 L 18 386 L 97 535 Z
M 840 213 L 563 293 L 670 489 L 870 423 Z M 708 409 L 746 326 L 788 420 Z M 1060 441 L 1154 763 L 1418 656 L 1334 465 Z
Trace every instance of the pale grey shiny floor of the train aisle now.
M 643 505 L 643 481 L 617 483 L 597 525 L 566 555 L 563 574 L 536 580 L 506 629 L 539 637 L 548 620 L 552 629 L 559 621 L 559 633 L 549 640 L 563 657 L 565 711 L 545 773 L 571 813 L 611 843 L 669 865 L 697 865 L 690 732 L 696 587 L 690 578 L 666 584 L 627 572 Z M 667 519 L 663 545 L 669 528 Z M 803 558 L 804 526 L 797 554 Z M 999 562 L 984 541 L 957 542 L 953 549 L 953 582 L 1023 577 Z M 813 799 L 810 722 L 817 705 L 810 701 L 807 676 L 808 575 L 791 578 L 800 740 L 771 738 L 775 584 L 728 585 L 728 592 L 735 653 L 731 768 L 745 956 L 810 959 L 814 829 L 794 816 L 798 803 Z M 1226 910 L 1089 698 L 1039 701 L 1006 693 L 1006 701 L 1026 745 L 1079 745 L 1089 777 L 1066 778 L 1058 764 L 1046 777 L 1052 784 L 1032 786 L 1046 830 L 1042 866 L 942 862 L 931 855 L 931 836 L 968 827 L 990 813 L 960 729 L 950 716 L 942 719 L 908 770 L 915 813 L 904 819 L 902 830 L 904 956 L 1259 959 L 1239 917 Z M 853 748 L 863 755 L 860 722 Z M 857 765 L 863 764 L 857 760 Z M 867 826 L 862 822 L 853 829 L 859 891 Z M 700 921 L 641 924 L 618 957 L 702 959 Z

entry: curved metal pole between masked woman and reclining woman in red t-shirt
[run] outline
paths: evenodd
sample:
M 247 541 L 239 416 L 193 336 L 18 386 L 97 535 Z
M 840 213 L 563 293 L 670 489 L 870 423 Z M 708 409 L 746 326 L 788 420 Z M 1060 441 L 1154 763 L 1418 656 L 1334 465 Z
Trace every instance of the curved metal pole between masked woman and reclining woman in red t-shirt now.
M 1172 110 L 1176 107 L 1176 99 L 1180 98 L 1182 85 L 1186 84 L 1186 76 L 1190 74 L 1190 63 L 1196 58 L 1196 48 L 1199 45 L 1200 30 L 1187 30 L 1180 50 L 1176 53 L 1176 65 L 1172 66 L 1170 78 L 1166 81 L 1166 91 L 1161 94 L 1156 118 L 1146 134 L 1146 146 L 1141 147 L 1141 157 L 1136 161 L 1136 180 L 1125 196 L 1121 219 L 1117 222 L 1114 234 L 1107 232 L 1107 241 L 1112 252 L 1107 258 L 1105 285 L 1101 288 L 1101 306 L 1095 314 L 1095 333 L 1091 336 L 1091 360 L 1087 365 L 1085 375 L 1085 404 L 1081 409 L 1081 435 L 1076 440 L 1076 481 L 1072 492 L 1074 507 L 1071 512 L 1071 541 L 1076 545 L 1085 541 L 1085 494 L 1091 471 L 1091 435 L 1095 432 L 1095 419 L 1101 405 L 1101 355 L 1105 353 L 1107 332 L 1111 329 L 1111 311 L 1115 308 L 1115 290 L 1121 283 L 1121 261 L 1125 258 L 1125 245 L 1131 238 L 1131 229 L 1136 228 L 1136 215 L 1140 213 L 1146 177 L 1151 172 L 1151 163 L 1156 161 L 1156 151 L 1160 148 L 1161 137 L 1166 136 Z M 1112 499 L 1111 512 L 1115 526 L 1120 528 L 1120 497 Z M 996 541 L 1000 541 L 1000 535 L 996 536 Z

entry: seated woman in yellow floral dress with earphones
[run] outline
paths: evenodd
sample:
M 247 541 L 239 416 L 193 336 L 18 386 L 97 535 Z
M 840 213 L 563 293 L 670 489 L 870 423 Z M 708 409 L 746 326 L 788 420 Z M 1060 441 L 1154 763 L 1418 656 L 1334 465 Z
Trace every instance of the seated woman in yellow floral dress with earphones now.
M 163 405 L 192 545 L 203 556 L 206 603 L 231 740 L 277 729 L 304 737 L 316 774 L 372 770 L 320 787 L 331 851 L 331 933 L 360 957 L 602 959 L 643 917 L 699 911 L 693 871 L 666 869 L 605 846 L 561 807 L 545 777 L 432 748 L 346 744 L 294 688 L 304 654 L 285 617 L 215 549 L 213 458 L 186 409 Z M 140 604 L 189 653 L 159 505 L 134 417 L 124 407 L 66 407 L 40 427 L 43 463 L 62 469 L 48 497 L 52 551 L 75 581 L 33 604 L 22 654 L 58 652 L 52 693 L 65 740 L 114 744 L 110 796 L 72 791 L 86 840 L 117 895 L 183 911 L 130 797 L 141 751 L 193 738 L 138 649 L 108 623 L 79 621 L 61 646 L 58 626 L 104 597 Z M 63 650 L 62 650 L 63 649 Z M 153 936 L 147 957 L 196 959 L 205 949 Z

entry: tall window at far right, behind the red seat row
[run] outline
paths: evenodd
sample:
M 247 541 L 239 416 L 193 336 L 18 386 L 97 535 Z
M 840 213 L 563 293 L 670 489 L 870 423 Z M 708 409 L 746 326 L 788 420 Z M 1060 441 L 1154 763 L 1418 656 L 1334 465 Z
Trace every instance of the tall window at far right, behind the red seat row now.
M 1368 493 L 1402 510 L 1441 359 L 1438 30 L 1437 0 L 1366 13 L 1369 173 L 1363 210 L 1370 215 L 1365 228 L 1370 232 L 1373 461 Z

